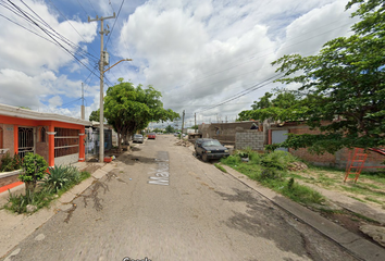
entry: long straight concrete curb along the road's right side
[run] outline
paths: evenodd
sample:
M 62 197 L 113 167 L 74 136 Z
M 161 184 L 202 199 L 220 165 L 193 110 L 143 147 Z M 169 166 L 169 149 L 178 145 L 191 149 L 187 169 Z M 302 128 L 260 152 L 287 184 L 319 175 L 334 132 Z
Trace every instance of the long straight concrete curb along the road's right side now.
M 235 179 L 252 188 L 264 198 L 271 200 L 274 204 L 288 213 L 295 215 L 306 224 L 313 227 L 319 233 L 332 239 L 356 258 L 361 260 L 382 261 L 385 257 L 385 249 L 374 245 L 367 239 L 357 236 L 356 234 L 347 231 L 346 228 L 326 220 L 319 213 L 313 212 L 306 207 L 298 204 L 290 199 L 287 199 L 273 190 L 259 185 L 256 181 L 250 179 L 245 174 L 241 174 L 229 166 L 222 165 L 227 173 Z

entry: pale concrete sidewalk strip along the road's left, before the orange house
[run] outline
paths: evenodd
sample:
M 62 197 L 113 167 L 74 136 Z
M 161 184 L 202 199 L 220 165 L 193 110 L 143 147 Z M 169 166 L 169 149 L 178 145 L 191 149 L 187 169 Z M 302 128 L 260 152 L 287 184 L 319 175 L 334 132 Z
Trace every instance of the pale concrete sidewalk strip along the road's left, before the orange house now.
M 108 163 L 91 174 L 89 178 L 74 186 L 63 194 L 57 201 L 53 201 L 49 209 L 41 209 L 32 215 L 12 214 L 4 209 L 0 210 L 0 259 L 4 258 L 16 247 L 23 239 L 34 233 L 38 227 L 44 225 L 58 210 L 65 211 L 71 207 L 71 202 L 90 187 L 95 179 L 103 177 L 107 173 L 115 167 L 114 163 Z M 22 185 L 24 187 L 24 185 Z M 22 186 L 13 188 L 20 190 Z M 12 191 L 12 189 L 11 189 Z M 7 191 L 8 195 L 8 191 Z M 8 215 L 8 216 L 7 216 Z

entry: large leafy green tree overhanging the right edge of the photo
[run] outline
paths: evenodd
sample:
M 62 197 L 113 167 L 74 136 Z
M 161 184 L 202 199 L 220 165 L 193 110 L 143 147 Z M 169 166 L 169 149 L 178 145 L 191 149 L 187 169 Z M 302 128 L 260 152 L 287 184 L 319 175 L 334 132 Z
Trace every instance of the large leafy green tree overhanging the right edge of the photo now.
M 351 0 L 361 20 L 355 34 L 326 42 L 316 55 L 284 55 L 273 65 L 284 84 L 300 84 L 300 104 L 286 110 L 291 120 L 306 119 L 319 135 L 289 135 L 282 145 L 335 152 L 344 147 L 385 145 L 385 5 L 382 0 Z M 291 76 L 293 75 L 293 76 Z

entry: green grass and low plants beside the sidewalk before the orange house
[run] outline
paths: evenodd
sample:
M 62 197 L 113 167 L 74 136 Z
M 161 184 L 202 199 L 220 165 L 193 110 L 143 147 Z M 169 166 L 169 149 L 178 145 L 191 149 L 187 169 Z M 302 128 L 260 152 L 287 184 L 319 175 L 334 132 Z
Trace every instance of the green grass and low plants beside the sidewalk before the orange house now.
M 90 176 L 91 174 L 89 172 L 80 172 L 76 181 L 66 183 L 65 186 L 61 187 L 60 189 L 55 189 L 47 185 L 45 186 L 45 183 L 39 183 L 36 187 L 35 192 L 29 198 L 27 198 L 27 196 L 25 195 L 12 195 L 9 190 L 10 196 L 8 202 L 3 206 L 3 208 L 14 213 L 26 213 L 26 207 L 28 203 L 36 206 L 37 210 L 41 208 L 47 208 L 49 207 L 51 201 L 57 198 L 55 195 L 58 195 L 59 197 L 62 196 L 72 187 L 87 179 Z

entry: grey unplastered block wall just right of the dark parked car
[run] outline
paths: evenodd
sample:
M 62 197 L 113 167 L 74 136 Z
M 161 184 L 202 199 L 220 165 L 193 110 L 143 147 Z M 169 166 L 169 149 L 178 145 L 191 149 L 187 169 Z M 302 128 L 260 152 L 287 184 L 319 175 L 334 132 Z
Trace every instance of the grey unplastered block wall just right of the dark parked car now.
M 235 149 L 246 149 L 247 147 L 253 150 L 263 150 L 264 133 L 257 129 L 238 130 L 235 134 Z

